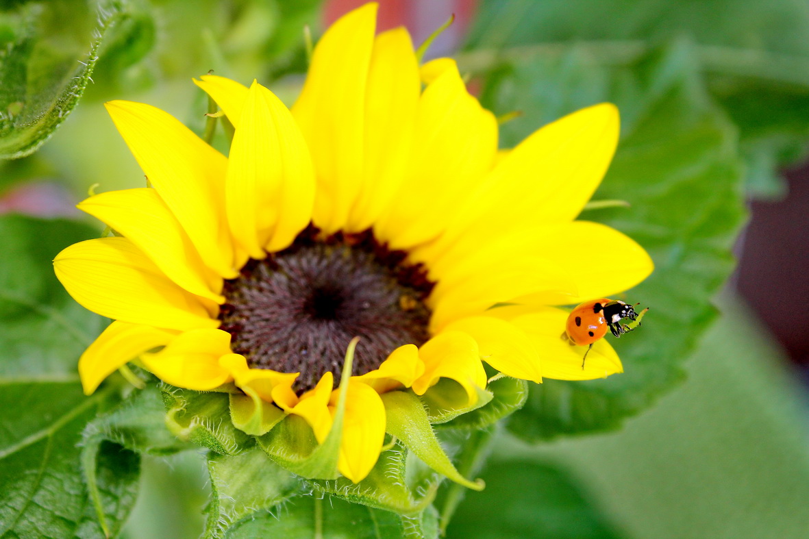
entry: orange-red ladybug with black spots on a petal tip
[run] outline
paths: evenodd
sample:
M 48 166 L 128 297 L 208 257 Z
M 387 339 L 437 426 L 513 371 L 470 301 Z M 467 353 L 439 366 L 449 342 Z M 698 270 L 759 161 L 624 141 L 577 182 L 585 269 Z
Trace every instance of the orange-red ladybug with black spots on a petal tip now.
M 635 303 L 637 305 L 638 303 Z M 593 343 L 603 338 L 609 329 L 615 337 L 621 337 L 637 326 L 649 308 L 640 313 L 635 312 L 635 306 L 624 303 L 621 299 L 599 298 L 586 301 L 570 312 L 565 325 L 562 339 L 575 346 L 588 346 L 582 358 L 582 369 L 590 353 Z M 629 324 L 621 325 L 621 320 L 628 318 Z

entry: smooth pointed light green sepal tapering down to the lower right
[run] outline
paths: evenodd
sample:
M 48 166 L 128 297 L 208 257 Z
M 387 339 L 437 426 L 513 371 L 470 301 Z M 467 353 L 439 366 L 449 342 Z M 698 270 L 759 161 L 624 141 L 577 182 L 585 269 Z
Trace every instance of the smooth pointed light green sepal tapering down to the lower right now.
M 452 465 L 447 453 L 438 443 L 421 399 L 409 391 L 392 391 L 381 397 L 387 418 L 385 430 L 389 434 L 400 439 L 426 465 L 451 481 L 472 490 L 483 490 L 482 481 L 469 481 Z

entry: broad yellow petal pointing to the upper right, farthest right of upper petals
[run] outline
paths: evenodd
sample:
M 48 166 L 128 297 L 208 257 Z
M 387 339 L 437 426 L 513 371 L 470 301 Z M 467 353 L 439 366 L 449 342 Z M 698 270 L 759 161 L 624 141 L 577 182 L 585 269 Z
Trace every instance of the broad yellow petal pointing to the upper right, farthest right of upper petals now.
M 537 130 L 498 162 L 447 231 L 501 232 L 574 219 L 604 178 L 618 142 L 618 109 L 583 108 Z

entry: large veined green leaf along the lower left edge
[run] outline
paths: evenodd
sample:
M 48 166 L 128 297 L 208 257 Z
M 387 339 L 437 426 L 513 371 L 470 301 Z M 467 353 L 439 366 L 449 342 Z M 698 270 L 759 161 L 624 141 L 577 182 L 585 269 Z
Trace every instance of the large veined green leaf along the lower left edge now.
M 0 217 L 0 536 L 104 537 L 129 514 L 140 460 L 99 441 L 85 460 L 82 431 L 118 401 L 110 384 L 85 397 L 75 374 L 100 318 L 78 308 L 53 275 L 61 247 L 91 231 L 68 221 Z M 103 516 L 101 524 L 99 516 Z

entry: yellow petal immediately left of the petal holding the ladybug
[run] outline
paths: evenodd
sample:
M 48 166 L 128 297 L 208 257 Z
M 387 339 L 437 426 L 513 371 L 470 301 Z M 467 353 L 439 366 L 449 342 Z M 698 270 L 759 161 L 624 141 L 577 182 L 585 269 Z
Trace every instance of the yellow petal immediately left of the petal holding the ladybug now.
M 462 331 L 475 339 L 481 359 L 503 374 L 542 383 L 543 370 L 535 343 L 510 322 L 492 316 L 470 316 L 447 325 L 446 331 Z

